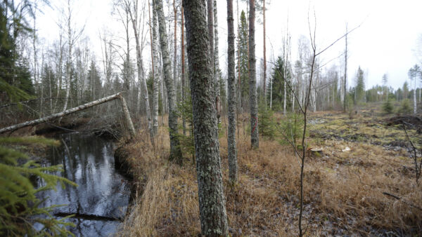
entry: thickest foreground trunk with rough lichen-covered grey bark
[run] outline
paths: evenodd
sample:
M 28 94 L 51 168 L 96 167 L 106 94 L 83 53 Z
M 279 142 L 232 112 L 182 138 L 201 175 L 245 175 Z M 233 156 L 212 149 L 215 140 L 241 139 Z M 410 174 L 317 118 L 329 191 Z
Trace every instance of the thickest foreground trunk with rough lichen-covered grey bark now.
M 193 109 L 201 230 L 227 236 L 227 217 L 215 109 L 205 0 L 183 1 Z

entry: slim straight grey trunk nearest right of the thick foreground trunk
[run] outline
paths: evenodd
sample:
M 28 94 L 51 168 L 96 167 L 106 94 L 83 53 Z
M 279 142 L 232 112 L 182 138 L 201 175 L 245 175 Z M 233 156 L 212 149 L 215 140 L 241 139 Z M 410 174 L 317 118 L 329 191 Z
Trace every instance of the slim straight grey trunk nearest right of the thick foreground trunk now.
M 227 89 L 229 131 L 227 137 L 229 153 L 229 179 L 231 182 L 237 182 L 238 164 L 236 149 L 236 78 L 234 71 L 234 18 L 233 18 L 233 0 L 227 0 Z

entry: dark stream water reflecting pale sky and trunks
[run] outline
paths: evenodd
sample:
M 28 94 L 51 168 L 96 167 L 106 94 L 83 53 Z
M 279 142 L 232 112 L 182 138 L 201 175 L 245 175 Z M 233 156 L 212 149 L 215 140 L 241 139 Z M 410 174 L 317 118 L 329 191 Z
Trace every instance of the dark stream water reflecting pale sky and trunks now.
M 78 187 L 60 185 L 57 191 L 46 191 L 44 205 L 56 208 L 56 217 L 75 214 L 68 219 L 75 236 L 110 236 L 116 232 L 129 204 L 129 181 L 115 170 L 113 143 L 94 135 L 68 133 L 58 137 L 62 145 L 51 149 L 48 165 L 63 165 L 63 176 Z M 65 143 L 65 144 L 63 144 Z M 39 185 L 42 185 L 39 181 Z

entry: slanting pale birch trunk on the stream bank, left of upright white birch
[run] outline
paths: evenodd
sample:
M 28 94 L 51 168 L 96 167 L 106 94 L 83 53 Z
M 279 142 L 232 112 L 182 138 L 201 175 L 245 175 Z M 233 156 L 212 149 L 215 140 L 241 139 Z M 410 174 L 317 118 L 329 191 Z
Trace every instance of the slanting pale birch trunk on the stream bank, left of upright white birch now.
M 130 15 L 130 19 L 132 20 L 132 28 L 134 29 L 135 42 L 136 42 L 136 65 L 138 66 L 138 80 L 141 83 L 140 86 L 141 86 L 141 90 L 142 90 L 142 93 L 143 93 L 143 101 L 144 101 L 145 110 L 146 110 L 146 117 L 148 119 L 148 130 L 149 130 L 149 133 L 150 133 L 151 143 L 153 145 L 155 145 L 154 144 L 154 131 L 153 131 L 152 123 L 151 123 L 151 107 L 149 105 L 148 89 L 146 87 L 146 80 L 143 77 L 143 62 L 142 62 L 141 43 L 139 42 L 139 32 L 138 32 L 138 27 L 137 27 L 137 23 L 136 23 L 138 17 L 137 17 L 136 9 L 134 9 L 134 10 L 135 10 L 135 17 L 132 14 L 132 11 L 130 9 L 129 9 L 129 15 Z M 139 93 L 140 92 L 138 92 L 138 97 L 139 97 Z

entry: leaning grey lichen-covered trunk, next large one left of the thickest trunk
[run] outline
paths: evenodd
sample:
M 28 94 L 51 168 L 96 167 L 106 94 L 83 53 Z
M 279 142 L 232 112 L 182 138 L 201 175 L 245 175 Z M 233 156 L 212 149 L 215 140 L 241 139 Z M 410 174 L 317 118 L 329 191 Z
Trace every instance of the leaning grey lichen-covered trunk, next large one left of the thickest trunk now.
M 162 0 L 154 0 L 154 9 L 158 16 L 158 30 L 160 32 L 160 46 L 162 55 L 162 67 L 164 72 L 165 87 L 167 89 L 167 102 L 169 105 L 169 127 L 170 127 L 170 160 L 181 163 L 181 148 L 179 144 L 177 128 L 177 106 L 176 90 L 172 79 L 172 65 L 170 64 L 169 46 L 167 41 L 167 29 L 165 16 L 162 9 Z

